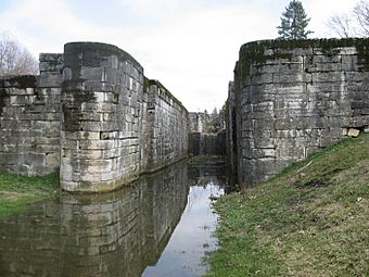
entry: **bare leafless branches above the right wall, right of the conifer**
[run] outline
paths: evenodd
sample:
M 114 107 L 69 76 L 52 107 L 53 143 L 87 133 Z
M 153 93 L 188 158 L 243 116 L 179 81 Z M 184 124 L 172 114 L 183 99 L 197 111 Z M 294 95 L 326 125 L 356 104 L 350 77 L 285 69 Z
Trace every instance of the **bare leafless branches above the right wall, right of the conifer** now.
M 349 13 L 334 14 L 328 21 L 332 33 L 341 38 L 369 36 L 369 2 L 357 2 Z

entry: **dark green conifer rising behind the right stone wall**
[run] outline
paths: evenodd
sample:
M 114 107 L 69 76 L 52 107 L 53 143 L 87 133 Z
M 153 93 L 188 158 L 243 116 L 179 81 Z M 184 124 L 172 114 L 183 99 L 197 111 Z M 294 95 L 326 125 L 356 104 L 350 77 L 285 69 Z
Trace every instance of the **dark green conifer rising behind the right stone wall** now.
M 278 26 L 280 38 L 306 39 L 311 30 L 306 30 L 310 18 L 307 18 L 304 7 L 298 0 L 292 0 L 282 13 L 281 26 Z

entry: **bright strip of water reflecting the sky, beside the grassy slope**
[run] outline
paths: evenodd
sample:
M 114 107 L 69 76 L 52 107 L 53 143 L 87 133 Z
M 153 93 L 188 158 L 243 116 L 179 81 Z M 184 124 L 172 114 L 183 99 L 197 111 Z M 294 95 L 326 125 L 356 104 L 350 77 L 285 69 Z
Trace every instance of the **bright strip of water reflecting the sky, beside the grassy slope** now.
M 188 204 L 161 259 L 144 270 L 144 277 L 196 277 L 206 273 L 206 252 L 217 248 L 213 234 L 218 215 L 212 210 L 211 199 L 224 193 L 222 173 L 221 166 L 189 166 Z

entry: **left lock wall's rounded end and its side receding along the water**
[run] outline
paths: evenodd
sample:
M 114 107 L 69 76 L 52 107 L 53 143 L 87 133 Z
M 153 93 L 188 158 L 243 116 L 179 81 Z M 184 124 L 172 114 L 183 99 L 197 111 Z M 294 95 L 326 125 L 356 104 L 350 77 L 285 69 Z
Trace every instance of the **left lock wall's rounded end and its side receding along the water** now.
M 123 50 L 67 43 L 61 186 L 104 191 L 187 155 L 188 112 Z

